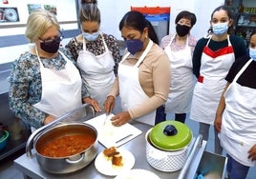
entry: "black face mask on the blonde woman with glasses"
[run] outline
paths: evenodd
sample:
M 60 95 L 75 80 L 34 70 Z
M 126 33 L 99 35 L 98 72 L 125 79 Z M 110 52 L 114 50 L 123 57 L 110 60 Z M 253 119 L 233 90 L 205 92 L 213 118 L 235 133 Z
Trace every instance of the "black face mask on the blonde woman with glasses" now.
M 42 50 L 46 52 L 55 53 L 59 49 L 60 41 L 61 41 L 61 37 L 56 37 L 51 41 L 41 42 L 40 47 Z

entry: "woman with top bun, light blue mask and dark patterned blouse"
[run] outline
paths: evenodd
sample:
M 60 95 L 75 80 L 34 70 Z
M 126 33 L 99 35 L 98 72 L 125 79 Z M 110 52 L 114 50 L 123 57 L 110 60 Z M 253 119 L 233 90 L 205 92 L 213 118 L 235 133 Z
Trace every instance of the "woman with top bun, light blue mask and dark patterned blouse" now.
M 96 0 L 81 0 L 79 22 L 82 33 L 66 48 L 73 54 L 90 96 L 96 100 L 96 111 L 100 111 L 117 75 L 120 60 L 117 39 L 99 30 L 100 11 Z

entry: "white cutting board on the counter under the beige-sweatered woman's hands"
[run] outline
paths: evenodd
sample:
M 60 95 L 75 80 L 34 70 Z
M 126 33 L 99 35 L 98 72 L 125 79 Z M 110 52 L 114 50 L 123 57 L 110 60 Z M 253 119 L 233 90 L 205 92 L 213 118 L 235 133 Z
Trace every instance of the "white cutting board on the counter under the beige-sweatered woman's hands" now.
M 114 116 L 114 114 L 109 114 L 108 116 L 101 114 L 84 122 L 96 128 L 98 132 L 98 142 L 105 148 L 119 147 L 142 133 L 141 130 L 129 123 L 120 127 L 113 126 L 110 121 L 112 116 Z

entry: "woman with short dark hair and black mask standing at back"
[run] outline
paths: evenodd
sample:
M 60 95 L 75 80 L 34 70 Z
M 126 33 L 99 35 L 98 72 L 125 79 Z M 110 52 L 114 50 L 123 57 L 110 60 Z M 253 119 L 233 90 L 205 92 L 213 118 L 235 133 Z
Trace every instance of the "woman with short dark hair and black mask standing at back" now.
M 175 113 L 175 120 L 185 122 L 195 77 L 192 71 L 192 53 L 197 40 L 190 35 L 196 24 L 196 15 L 190 11 L 181 11 L 176 19 L 176 34 L 167 35 L 161 40 L 161 48 L 168 54 L 171 65 L 171 86 L 165 112 Z

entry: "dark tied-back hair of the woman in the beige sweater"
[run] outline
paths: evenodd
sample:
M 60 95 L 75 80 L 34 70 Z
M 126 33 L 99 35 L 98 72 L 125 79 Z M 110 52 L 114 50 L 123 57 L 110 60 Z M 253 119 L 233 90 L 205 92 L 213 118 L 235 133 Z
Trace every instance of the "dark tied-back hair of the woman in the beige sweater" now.
M 122 17 L 119 23 L 119 30 L 122 30 L 123 27 L 129 27 L 134 30 L 139 30 L 141 33 L 144 30 L 144 28 L 148 28 L 148 37 L 154 43 L 159 45 L 159 38 L 152 24 L 139 11 L 137 10 L 128 11 Z

